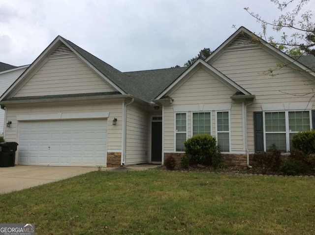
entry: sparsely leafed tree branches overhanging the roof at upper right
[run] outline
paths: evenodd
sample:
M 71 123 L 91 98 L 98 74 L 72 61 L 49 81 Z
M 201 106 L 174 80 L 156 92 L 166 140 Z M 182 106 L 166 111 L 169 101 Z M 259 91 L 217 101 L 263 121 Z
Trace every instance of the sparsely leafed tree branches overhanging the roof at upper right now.
M 297 5 L 272 22 L 264 20 L 259 14 L 250 12 L 249 7 L 244 8 L 257 22 L 261 23 L 262 32 L 259 36 L 289 56 L 315 56 L 315 23 L 311 20 L 311 10 L 304 10 L 310 0 L 270 1 L 275 3 L 281 12 L 294 2 L 297 2 Z M 280 41 L 276 41 L 273 36 L 267 36 L 268 27 L 282 33 Z M 287 31 L 293 31 L 293 33 L 289 36 Z

